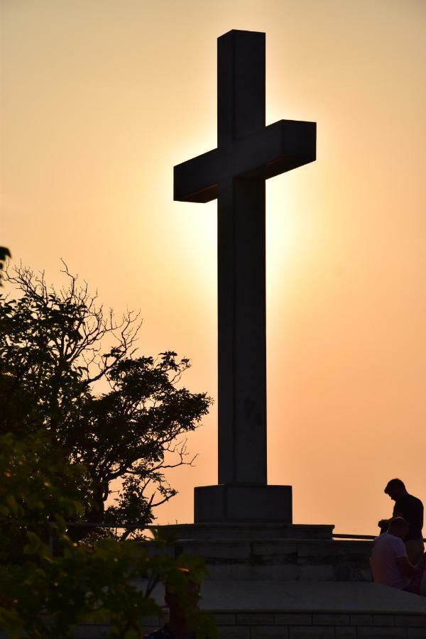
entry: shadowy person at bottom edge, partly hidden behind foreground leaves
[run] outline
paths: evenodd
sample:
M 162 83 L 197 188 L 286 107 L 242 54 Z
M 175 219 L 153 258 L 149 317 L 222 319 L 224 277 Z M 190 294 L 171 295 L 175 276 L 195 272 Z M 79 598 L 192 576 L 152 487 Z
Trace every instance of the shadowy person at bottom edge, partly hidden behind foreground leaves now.
M 165 584 L 164 601 L 169 609 L 169 621 L 163 628 L 146 635 L 145 639 L 195 639 L 192 621 L 198 611 L 200 585 L 191 580 L 187 568 L 179 571 L 186 577 L 185 592 L 178 595 L 173 585 Z

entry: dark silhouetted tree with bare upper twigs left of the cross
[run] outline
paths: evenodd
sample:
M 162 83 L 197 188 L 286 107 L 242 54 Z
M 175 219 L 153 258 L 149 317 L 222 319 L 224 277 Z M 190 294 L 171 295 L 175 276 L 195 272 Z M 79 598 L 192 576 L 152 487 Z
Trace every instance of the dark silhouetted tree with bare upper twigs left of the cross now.
M 192 464 L 185 434 L 211 400 L 181 385 L 188 359 L 138 354 L 137 314 L 115 322 L 86 283 L 66 266 L 62 273 L 66 284 L 55 290 L 44 273 L 5 271 L 17 294 L 0 297 L 0 432 L 44 433 L 41 457 L 84 466 L 80 518 L 151 523 L 153 509 L 176 493 L 164 471 Z M 108 505 L 114 480 L 121 488 Z

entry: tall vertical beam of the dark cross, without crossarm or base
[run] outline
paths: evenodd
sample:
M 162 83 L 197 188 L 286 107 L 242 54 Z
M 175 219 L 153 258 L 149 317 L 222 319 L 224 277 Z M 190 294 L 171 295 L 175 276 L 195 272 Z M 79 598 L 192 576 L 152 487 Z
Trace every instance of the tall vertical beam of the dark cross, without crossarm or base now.
M 219 148 L 265 127 L 265 34 L 217 43 Z M 265 182 L 230 177 L 217 209 L 219 484 L 266 484 Z

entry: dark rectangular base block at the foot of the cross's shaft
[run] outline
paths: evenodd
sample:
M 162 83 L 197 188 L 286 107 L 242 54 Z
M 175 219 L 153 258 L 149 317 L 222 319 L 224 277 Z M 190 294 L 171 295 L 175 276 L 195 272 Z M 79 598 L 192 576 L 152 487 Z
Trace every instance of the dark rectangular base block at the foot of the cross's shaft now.
M 195 523 L 292 521 L 291 486 L 219 484 L 194 488 Z

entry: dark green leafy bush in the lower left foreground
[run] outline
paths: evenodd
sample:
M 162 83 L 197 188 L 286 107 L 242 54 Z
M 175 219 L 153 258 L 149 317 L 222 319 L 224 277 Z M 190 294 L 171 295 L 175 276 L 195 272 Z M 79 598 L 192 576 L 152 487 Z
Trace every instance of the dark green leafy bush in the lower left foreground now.
M 110 624 L 111 637 L 141 638 L 143 617 L 161 613 L 151 597 L 155 584 L 172 582 L 185 602 L 180 566 L 189 567 L 200 583 L 203 562 L 148 554 L 131 541 L 101 540 L 94 548 L 72 542 L 62 516 L 75 516 L 82 506 L 57 476 L 68 475 L 67 485 L 73 486 L 84 469 L 46 457 L 48 444 L 45 432 L 25 440 L 0 435 L 0 630 L 8 630 L 11 639 L 24 632 L 33 639 L 65 639 L 77 623 L 97 621 Z M 45 543 L 50 515 L 60 546 L 55 555 Z M 195 612 L 190 621 L 197 637 L 215 636 L 209 616 Z

